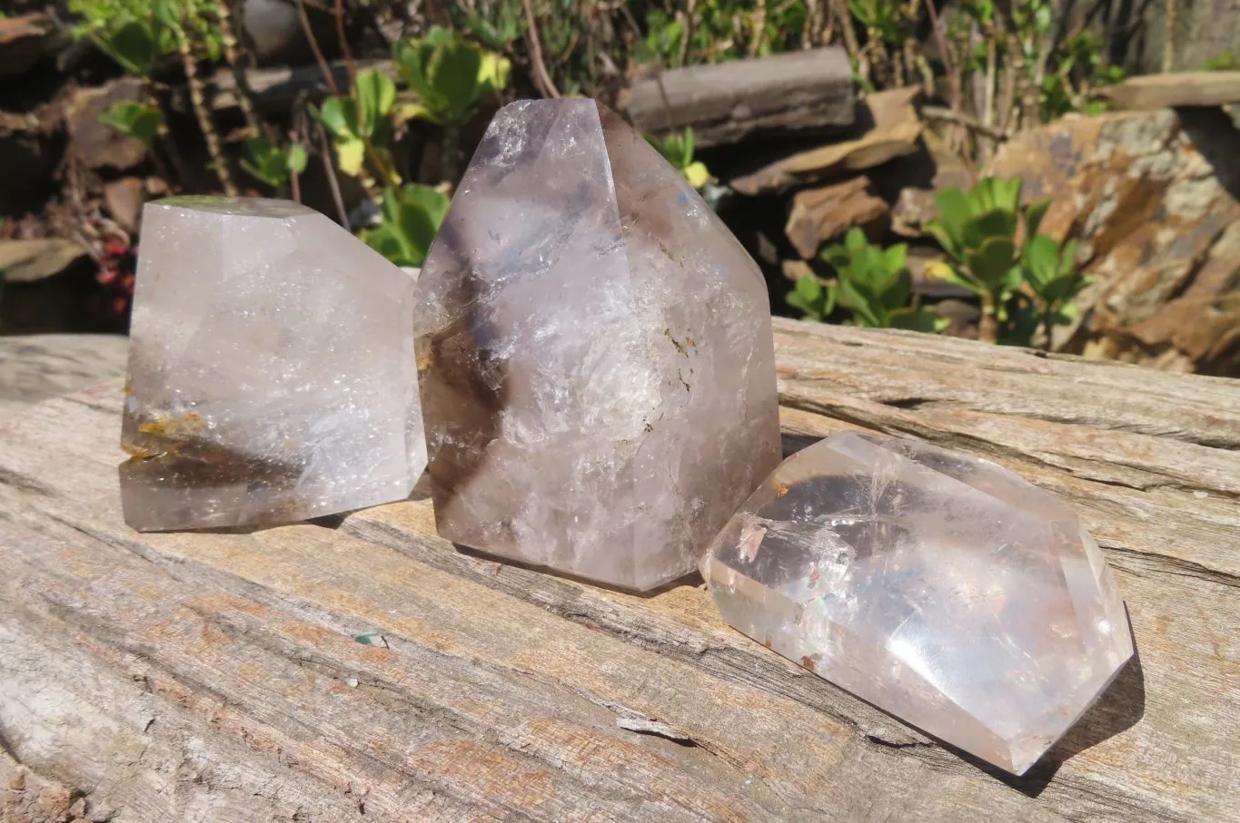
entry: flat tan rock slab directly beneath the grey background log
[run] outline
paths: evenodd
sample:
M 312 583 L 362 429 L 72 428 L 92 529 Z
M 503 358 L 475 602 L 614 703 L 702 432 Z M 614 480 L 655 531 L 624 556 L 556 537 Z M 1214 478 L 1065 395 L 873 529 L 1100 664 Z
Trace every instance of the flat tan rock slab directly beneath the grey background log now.
M 856 136 L 766 162 L 733 177 L 732 187 L 742 195 L 774 193 L 913 154 L 921 136 L 921 120 L 913 105 L 919 92 L 900 88 L 867 95 L 857 103 Z

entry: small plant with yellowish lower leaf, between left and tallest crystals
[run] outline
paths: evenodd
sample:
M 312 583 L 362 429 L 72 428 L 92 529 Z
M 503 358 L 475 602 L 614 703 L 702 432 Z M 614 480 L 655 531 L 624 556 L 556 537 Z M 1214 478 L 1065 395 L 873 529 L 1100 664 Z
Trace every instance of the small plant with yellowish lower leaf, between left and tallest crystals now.
M 340 170 L 346 175 L 362 176 L 370 157 L 384 185 L 399 182 L 392 170 L 389 151 L 394 104 L 396 83 L 377 69 L 358 72 L 348 94 L 322 102 L 319 120 L 331 134 Z

